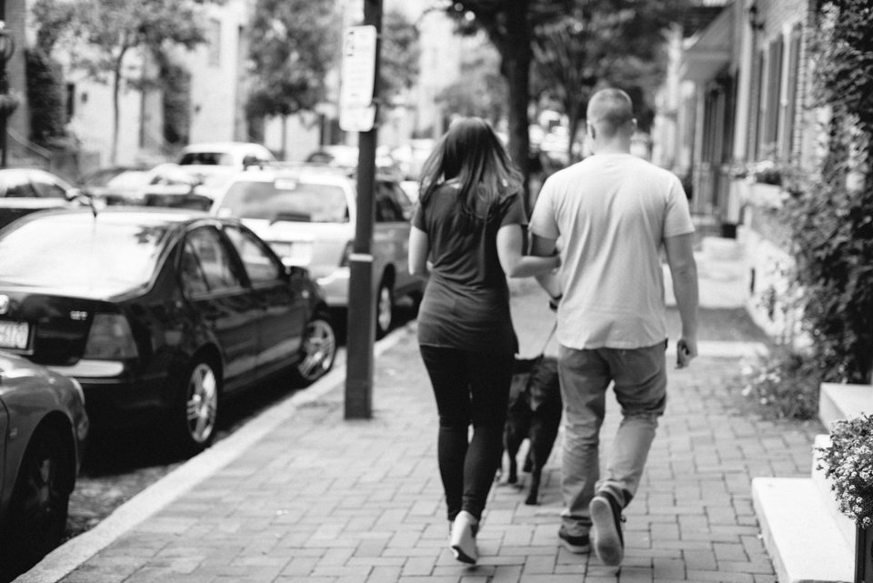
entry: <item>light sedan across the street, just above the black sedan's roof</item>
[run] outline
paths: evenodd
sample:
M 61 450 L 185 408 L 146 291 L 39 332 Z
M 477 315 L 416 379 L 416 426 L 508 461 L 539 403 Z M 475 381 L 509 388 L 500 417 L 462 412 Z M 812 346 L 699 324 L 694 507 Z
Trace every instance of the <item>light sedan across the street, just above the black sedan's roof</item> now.
M 111 166 L 85 175 L 79 188 L 107 205 L 170 206 L 208 210 L 212 200 L 195 193 L 196 176 L 177 164 Z

